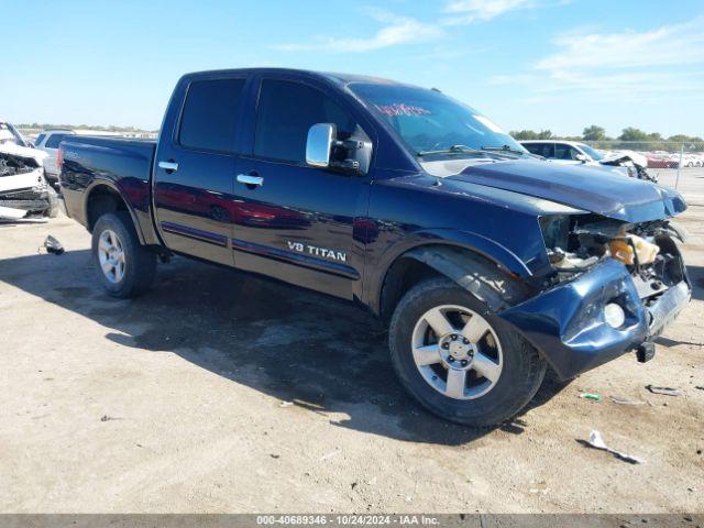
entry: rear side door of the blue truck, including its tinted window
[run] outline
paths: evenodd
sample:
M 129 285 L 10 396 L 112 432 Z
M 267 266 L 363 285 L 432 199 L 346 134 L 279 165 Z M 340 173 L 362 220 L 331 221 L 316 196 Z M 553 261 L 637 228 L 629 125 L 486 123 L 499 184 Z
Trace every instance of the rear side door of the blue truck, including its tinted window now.
M 185 102 L 169 108 L 173 130 L 163 131 L 156 153 L 156 226 L 170 250 L 233 265 L 234 151 L 246 79 L 182 82 Z

